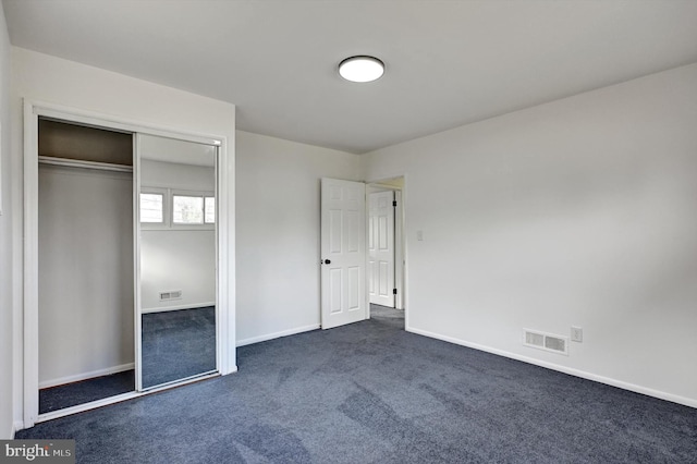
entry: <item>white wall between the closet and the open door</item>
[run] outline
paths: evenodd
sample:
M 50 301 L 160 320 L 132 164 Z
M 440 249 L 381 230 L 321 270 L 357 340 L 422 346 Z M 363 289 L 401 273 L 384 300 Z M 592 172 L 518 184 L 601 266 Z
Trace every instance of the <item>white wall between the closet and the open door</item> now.
M 237 132 L 237 343 L 319 327 L 319 180 L 356 155 Z

